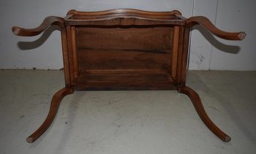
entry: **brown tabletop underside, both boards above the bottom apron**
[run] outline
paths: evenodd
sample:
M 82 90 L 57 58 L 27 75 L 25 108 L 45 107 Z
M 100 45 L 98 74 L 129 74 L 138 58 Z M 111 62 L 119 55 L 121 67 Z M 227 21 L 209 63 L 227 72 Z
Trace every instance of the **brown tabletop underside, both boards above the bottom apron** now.
M 79 69 L 170 69 L 172 29 L 79 27 Z

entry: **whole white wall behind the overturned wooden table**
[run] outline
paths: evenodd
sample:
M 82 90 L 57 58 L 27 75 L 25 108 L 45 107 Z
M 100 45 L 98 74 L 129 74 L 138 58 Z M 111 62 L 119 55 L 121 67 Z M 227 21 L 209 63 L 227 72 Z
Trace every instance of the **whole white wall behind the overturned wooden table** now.
M 252 0 L 1 0 L 0 69 L 63 67 L 60 31 L 53 31 L 53 27 L 39 36 L 22 37 L 12 34 L 12 26 L 34 28 L 48 15 L 64 17 L 69 9 L 95 11 L 116 8 L 152 11 L 178 9 L 185 17 L 204 15 L 227 31 L 246 31 L 248 35 L 243 42 L 220 40 L 227 45 L 238 45 L 239 49 L 222 45 L 217 41 L 219 39 L 214 39 L 201 28 L 195 29 L 192 31 L 189 69 L 256 70 L 256 52 L 252 46 L 256 36 L 252 27 L 255 21 L 244 18 L 256 15 L 255 2 Z M 203 31 L 203 35 L 198 29 Z M 214 46 L 209 40 L 213 40 Z

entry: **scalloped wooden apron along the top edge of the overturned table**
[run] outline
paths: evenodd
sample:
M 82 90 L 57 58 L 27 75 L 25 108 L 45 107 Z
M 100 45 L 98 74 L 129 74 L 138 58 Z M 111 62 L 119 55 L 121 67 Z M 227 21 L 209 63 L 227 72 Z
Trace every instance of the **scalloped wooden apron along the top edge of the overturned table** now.
M 111 9 L 101 12 L 78 12 L 70 10 L 67 13 L 68 25 L 97 26 L 130 26 L 130 25 L 184 25 L 184 20 L 176 15 L 181 12 L 148 12 L 138 9 Z

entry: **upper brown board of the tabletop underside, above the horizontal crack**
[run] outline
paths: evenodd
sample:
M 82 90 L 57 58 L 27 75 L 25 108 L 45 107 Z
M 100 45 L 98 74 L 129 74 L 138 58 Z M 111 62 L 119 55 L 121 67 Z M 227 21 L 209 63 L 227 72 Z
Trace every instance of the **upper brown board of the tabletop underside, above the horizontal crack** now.
M 172 28 L 77 28 L 78 49 L 170 49 Z

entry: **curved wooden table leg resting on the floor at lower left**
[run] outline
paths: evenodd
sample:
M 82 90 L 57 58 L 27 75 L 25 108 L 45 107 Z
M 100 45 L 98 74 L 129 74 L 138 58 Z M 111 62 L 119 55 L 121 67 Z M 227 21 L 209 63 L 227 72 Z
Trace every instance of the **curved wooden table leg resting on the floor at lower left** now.
M 49 128 L 50 124 L 53 123 L 53 119 L 58 111 L 61 99 L 63 99 L 64 96 L 71 94 L 73 92 L 73 88 L 62 88 L 53 95 L 53 99 L 51 100 L 50 110 L 48 112 L 47 118 L 42 123 L 42 125 L 37 129 L 37 131 L 34 131 L 34 133 L 31 134 L 31 136 L 26 138 L 26 142 L 33 143 L 35 140 L 39 138 L 39 136 L 41 136 Z

